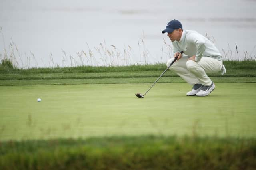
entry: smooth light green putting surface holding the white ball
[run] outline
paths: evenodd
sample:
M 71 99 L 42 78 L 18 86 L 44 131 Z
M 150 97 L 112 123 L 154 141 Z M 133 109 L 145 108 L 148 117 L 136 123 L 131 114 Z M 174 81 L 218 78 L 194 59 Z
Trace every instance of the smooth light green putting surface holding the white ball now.
M 112 135 L 256 136 L 256 83 L 216 83 L 188 97 L 187 83 L 0 87 L 0 140 Z M 42 102 L 38 103 L 37 98 Z

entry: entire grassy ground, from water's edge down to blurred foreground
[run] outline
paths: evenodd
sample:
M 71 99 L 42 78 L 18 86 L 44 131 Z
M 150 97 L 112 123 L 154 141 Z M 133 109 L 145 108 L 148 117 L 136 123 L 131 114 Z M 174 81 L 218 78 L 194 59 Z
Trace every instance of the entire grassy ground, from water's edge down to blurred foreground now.
M 145 99 L 166 65 L 0 67 L 0 167 L 256 169 L 256 64 L 224 64 L 208 97 L 167 71 Z

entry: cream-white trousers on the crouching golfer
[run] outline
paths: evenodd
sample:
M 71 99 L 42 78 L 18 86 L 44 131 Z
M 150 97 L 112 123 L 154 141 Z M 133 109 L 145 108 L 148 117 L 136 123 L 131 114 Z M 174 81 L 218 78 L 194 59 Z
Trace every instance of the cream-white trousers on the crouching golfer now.
M 182 79 L 191 85 L 202 84 L 210 86 L 212 81 L 207 73 L 217 73 L 222 68 L 222 61 L 211 57 L 202 57 L 199 62 L 188 60 L 188 56 L 182 56 L 178 61 L 173 63 L 170 70 L 177 73 Z M 171 58 L 167 61 L 167 67 L 174 60 Z

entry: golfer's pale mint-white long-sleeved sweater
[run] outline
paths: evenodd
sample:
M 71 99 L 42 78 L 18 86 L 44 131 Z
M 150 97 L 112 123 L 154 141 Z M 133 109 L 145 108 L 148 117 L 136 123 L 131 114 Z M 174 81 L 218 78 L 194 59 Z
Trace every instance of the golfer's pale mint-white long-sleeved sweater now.
M 222 55 L 215 45 L 193 30 L 183 30 L 180 41 L 172 42 L 173 53 L 184 51 L 185 55 L 192 57 L 196 55 L 196 62 L 200 61 L 202 56 L 212 57 L 222 61 Z

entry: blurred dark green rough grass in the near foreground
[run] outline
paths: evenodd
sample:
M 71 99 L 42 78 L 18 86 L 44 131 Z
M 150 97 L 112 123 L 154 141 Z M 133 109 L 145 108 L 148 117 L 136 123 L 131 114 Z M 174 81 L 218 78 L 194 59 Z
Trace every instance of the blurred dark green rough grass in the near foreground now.
M 140 136 L 2 142 L 5 170 L 240 170 L 256 168 L 256 140 Z

